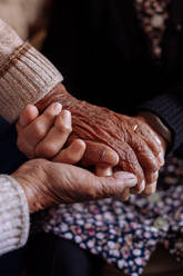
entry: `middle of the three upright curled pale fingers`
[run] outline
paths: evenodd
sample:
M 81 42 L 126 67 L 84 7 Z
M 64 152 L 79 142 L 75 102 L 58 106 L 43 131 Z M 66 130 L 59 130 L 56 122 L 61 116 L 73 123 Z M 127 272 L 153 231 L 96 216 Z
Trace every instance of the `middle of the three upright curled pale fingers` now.
M 53 126 L 57 116 L 61 112 L 62 106 L 52 103 L 45 111 L 32 121 L 24 131 L 24 140 L 35 150 L 35 146 L 44 138 Z

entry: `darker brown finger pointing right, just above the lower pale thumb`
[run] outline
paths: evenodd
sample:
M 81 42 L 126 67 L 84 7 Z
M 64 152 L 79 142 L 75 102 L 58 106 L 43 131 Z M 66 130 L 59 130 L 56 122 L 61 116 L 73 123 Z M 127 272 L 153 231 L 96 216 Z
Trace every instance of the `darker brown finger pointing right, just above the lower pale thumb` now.
M 105 164 L 114 167 L 119 162 L 119 155 L 109 146 L 89 140 L 84 140 L 84 142 L 87 149 L 82 159 L 83 166 Z

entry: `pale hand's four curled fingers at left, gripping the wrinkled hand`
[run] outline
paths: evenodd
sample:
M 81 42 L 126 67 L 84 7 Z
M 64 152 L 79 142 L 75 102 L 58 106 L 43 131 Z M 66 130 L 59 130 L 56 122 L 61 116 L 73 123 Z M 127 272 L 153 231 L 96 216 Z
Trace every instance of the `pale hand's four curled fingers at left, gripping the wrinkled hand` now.
M 71 114 L 62 110 L 61 103 L 58 102 L 49 106 L 41 115 L 35 106 L 29 105 L 20 114 L 17 131 L 18 148 L 30 159 L 42 157 L 53 161 L 75 164 L 85 150 L 85 144 L 81 139 L 63 148 L 72 131 Z

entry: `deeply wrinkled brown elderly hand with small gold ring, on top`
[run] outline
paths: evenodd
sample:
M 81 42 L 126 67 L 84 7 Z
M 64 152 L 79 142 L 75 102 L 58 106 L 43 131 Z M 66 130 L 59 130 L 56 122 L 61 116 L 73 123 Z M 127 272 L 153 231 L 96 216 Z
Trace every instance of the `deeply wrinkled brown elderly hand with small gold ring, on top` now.
M 43 110 L 55 101 L 72 112 L 73 131 L 70 140 L 81 138 L 84 141 L 103 142 L 113 148 L 120 157 L 118 168 L 138 177 L 136 191 L 142 193 L 148 186 L 148 194 L 154 191 L 159 170 L 164 164 L 164 144 L 142 117 L 123 116 L 78 100 L 68 93 L 61 83 L 39 101 L 37 107 Z M 85 166 L 89 156 L 83 156 L 82 164 Z

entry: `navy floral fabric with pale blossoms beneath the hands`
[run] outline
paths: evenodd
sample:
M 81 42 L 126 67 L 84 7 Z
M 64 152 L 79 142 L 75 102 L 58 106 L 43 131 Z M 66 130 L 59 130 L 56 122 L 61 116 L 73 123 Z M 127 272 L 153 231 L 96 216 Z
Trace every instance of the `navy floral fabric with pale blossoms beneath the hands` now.
M 130 276 L 143 272 L 160 243 L 183 264 L 183 160 L 166 160 L 150 197 L 61 205 L 38 214 L 34 227 L 77 243 Z

